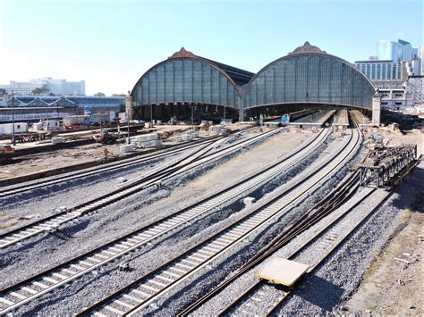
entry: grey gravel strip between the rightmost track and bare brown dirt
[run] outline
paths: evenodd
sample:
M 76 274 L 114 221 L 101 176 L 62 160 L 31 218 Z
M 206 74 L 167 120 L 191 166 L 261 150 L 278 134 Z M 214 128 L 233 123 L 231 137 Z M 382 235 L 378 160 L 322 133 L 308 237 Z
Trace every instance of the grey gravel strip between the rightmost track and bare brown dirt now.
M 318 267 L 303 288 L 282 307 L 281 313 L 331 313 L 359 286 L 360 279 L 387 241 L 403 226 L 402 210 L 416 199 L 422 188 L 424 163 L 360 229 Z

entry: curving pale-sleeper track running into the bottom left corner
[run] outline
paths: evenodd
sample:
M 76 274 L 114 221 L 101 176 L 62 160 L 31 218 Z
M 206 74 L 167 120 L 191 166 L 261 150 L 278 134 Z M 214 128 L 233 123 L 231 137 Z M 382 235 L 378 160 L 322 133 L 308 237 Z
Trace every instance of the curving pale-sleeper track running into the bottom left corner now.
M 38 296 L 51 292 L 53 289 L 69 283 L 73 279 L 78 279 L 81 275 L 89 271 L 96 270 L 98 267 L 106 265 L 106 263 L 110 263 L 124 254 L 130 253 L 132 250 L 140 248 L 140 246 L 146 245 L 152 240 L 181 227 L 188 221 L 199 218 L 201 215 L 214 210 L 216 206 L 224 204 L 234 197 L 241 196 L 246 191 L 256 188 L 259 184 L 273 179 L 279 173 L 299 163 L 302 159 L 313 153 L 318 146 L 322 145 L 328 133 L 329 129 L 322 129 L 316 137 L 311 138 L 306 144 L 299 146 L 293 153 L 286 154 L 281 159 L 281 162 L 274 163 L 265 171 L 259 171 L 251 175 L 248 179 L 244 179 L 229 188 L 225 188 L 215 195 L 203 199 L 197 204 L 184 208 L 181 211 L 173 213 L 159 221 L 155 221 L 141 229 L 137 229 L 122 238 L 117 238 L 105 246 L 100 246 L 88 253 L 81 254 L 66 263 L 57 265 L 48 271 L 41 272 L 30 279 L 25 279 L 11 287 L 4 288 L 0 294 L 0 302 L 10 305 L 8 311 L 13 310 L 21 304 L 28 303 Z M 42 286 L 40 287 L 40 285 Z M 37 293 L 31 293 L 31 296 L 23 298 L 24 295 L 21 295 L 22 288 L 25 288 L 23 291 L 26 290 L 28 292 L 28 288 L 30 288 L 37 291 Z M 11 300 L 12 298 L 10 297 L 7 299 L 6 297 L 8 295 L 12 295 L 14 300 Z M 21 295 L 21 297 L 19 295 Z M 20 299 L 19 302 L 16 302 L 16 297 Z M 11 304 L 12 302 L 14 304 Z M 0 313 L 3 313 L 3 311 Z

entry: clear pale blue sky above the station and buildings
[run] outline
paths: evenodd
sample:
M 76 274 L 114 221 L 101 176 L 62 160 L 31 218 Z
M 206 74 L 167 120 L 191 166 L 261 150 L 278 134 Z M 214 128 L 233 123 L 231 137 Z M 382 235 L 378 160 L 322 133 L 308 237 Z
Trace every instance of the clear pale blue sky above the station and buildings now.
M 259 71 L 305 41 L 349 62 L 377 41 L 423 42 L 422 0 L 0 0 L 0 84 L 86 80 L 87 94 L 126 93 L 184 46 Z

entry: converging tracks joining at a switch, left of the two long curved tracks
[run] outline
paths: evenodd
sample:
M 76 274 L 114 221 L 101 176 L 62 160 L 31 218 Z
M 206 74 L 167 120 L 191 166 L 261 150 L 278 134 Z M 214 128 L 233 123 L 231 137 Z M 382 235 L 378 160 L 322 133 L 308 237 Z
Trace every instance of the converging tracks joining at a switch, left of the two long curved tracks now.
M 79 204 L 72 207 L 71 209 L 64 209 L 59 213 L 55 213 L 46 218 L 39 219 L 38 221 L 31 222 L 30 224 L 24 225 L 20 228 L 10 230 L 0 235 L 0 249 L 12 246 L 24 239 L 34 237 L 46 231 L 55 230 L 60 225 L 73 221 L 81 215 L 92 213 L 108 204 L 112 204 L 118 200 L 121 200 L 127 196 L 140 192 L 140 190 L 150 188 L 152 186 L 160 186 L 166 179 L 170 179 L 176 175 L 182 174 L 185 171 L 189 171 L 201 164 L 209 163 L 216 158 L 231 154 L 245 146 L 249 146 L 255 142 L 258 142 L 262 138 L 267 138 L 279 129 L 270 130 L 262 133 L 258 136 L 248 138 L 230 146 L 217 149 L 214 153 L 208 154 L 213 146 L 219 146 L 223 138 L 217 138 L 210 143 L 207 143 L 202 149 L 198 150 L 194 154 L 187 155 L 186 157 L 176 160 L 174 163 L 170 163 L 165 166 L 164 169 L 159 171 L 153 171 L 146 176 L 142 176 L 139 179 L 134 179 L 128 182 L 122 188 L 114 189 L 106 195 L 99 196 L 90 200 L 89 202 Z

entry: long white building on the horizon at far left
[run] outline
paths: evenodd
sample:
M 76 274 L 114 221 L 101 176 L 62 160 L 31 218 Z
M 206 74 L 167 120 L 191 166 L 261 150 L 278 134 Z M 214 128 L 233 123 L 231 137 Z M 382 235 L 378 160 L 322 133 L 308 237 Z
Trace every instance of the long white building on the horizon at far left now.
M 57 96 L 85 96 L 85 81 L 66 81 L 66 79 L 30 79 L 29 82 L 18 82 L 11 80 L 9 85 L 0 85 L 6 93 L 11 95 L 12 91 L 17 96 L 29 96 L 35 88 L 46 87 L 52 94 Z

